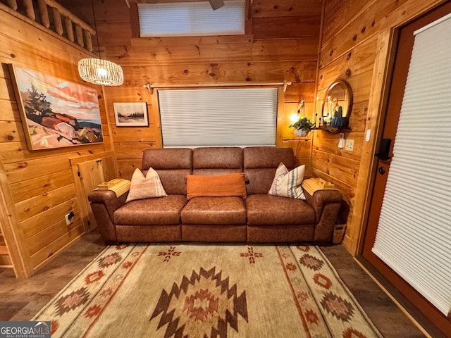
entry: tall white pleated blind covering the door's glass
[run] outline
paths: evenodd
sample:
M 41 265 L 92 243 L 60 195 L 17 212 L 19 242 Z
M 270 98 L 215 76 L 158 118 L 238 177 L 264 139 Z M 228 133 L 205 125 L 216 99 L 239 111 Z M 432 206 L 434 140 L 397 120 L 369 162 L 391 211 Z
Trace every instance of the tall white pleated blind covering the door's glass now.
M 451 15 L 415 32 L 373 253 L 451 312 Z

